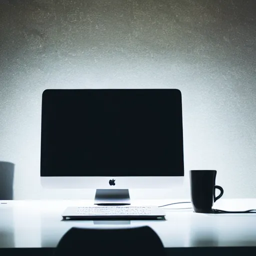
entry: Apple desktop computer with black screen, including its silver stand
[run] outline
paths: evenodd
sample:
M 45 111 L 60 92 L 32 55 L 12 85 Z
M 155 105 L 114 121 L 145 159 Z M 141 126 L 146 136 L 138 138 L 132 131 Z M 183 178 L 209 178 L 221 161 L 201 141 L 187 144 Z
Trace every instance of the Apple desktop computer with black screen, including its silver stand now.
M 129 204 L 129 188 L 173 188 L 183 176 L 178 89 L 43 91 L 43 187 L 95 188 L 96 204 Z

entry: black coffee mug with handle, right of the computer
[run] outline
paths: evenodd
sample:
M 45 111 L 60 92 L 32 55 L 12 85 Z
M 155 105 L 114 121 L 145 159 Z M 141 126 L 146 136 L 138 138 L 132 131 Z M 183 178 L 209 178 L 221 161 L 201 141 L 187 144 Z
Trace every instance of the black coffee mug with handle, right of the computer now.
M 194 212 L 212 213 L 213 203 L 219 199 L 224 190 L 215 185 L 216 170 L 190 170 L 190 194 Z M 218 196 L 215 189 L 220 190 Z

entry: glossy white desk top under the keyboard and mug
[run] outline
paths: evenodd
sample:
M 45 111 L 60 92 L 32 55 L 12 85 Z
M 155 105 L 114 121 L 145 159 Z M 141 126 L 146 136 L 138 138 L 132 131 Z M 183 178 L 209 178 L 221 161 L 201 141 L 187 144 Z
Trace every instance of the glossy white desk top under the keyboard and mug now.
M 133 204 L 162 205 L 175 201 L 184 199 L 141 200 L 134 201 Z M 92 205 L 92 201 L 0 202 L 0 248 L 55 247 L 61 236 L 72 226 L 116 228 L 140 225 L 152 227 L 165 247 L 256 246 L 256 213 L 202 214 L 194 213 L 192 209 L 166 209 L 166 220 L 64 221 L 61 213 L 65 207 Z M 176 204 L 167 207 L 189 206 L 190 204 Z M 256 208 L 256 199 L 219 199 L 214 207 L 226 210 Z

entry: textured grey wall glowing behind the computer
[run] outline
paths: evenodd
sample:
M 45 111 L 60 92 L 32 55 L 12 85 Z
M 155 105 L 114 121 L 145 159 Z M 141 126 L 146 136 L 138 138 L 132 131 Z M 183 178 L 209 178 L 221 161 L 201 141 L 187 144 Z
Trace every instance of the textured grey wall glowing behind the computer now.
M 224 197 L 256 196 L 254 0 L 0 0 L 0 160 L 14 196 L 91 196 L 39 185 L 46 88 L 178 88 L 188 170 Z M 142 191 L 134 192 L 142 195 Z

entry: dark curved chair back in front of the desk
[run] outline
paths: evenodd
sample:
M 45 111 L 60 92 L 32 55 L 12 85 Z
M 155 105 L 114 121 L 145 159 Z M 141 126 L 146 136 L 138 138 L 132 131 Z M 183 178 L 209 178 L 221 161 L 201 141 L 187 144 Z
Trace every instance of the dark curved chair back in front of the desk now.
M 60 239 L 55 256 L 164 255 L 163 244 L 148 226 L 90 229 L 72 227 Z

